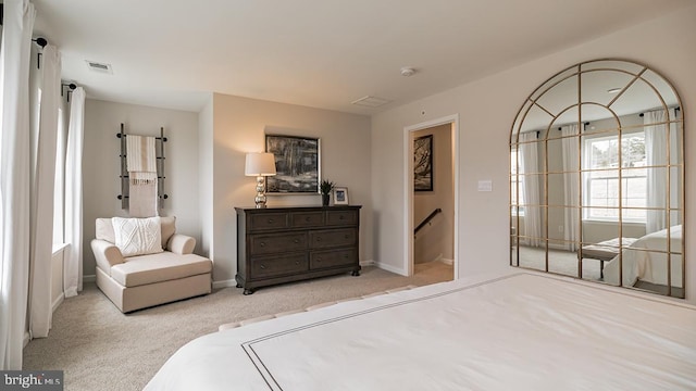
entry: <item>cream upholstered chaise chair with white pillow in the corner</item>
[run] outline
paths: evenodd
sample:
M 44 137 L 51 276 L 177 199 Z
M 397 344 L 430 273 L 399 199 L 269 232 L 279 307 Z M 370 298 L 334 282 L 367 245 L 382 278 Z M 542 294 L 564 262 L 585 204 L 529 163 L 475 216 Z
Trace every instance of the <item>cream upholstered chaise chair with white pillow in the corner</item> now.
M 97 287 L 123 313 L 211 292 L 212 262 L 175 217 L 97 218 Z M 159 229 L 158 229 L 159 226 Z

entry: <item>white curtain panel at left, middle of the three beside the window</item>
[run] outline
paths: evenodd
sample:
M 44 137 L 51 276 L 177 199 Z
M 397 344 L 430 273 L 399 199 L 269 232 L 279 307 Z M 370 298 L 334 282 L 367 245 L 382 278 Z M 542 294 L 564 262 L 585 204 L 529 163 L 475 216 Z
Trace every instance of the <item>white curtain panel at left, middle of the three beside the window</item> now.
M 33 65 L 34 66 L 34 65 Z M 32 129 L 32 223 L 29 260 L 29 337 L 48 337 L 51 327 L 51 256 L 55 143 L 61 88 L 61 58 L 54 46 L 44 48 L 38 84 L 38 126 Z

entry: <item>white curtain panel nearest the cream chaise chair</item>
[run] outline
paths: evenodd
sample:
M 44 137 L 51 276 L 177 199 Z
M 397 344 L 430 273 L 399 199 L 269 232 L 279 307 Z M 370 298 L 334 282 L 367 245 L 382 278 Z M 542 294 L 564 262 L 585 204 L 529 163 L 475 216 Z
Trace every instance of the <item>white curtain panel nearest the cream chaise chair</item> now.
M 69 243 L 63 276 L 65 298 L 83 290 L 83 138 L 85 90 L 73 91 L 65 157 L 65 242 Z

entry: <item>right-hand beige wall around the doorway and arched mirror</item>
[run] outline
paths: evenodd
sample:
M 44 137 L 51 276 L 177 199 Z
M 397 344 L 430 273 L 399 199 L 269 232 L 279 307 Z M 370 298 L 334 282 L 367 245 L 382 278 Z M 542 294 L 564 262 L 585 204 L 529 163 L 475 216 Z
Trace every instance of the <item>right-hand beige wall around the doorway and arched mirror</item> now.
M 509 136 L 526 97 L 547 78 L 575 63 L 622 58 L 645 63 L 676 86 L 685 121 L 686 157 L 696 153 L 696 5 L 569 48 L 499 74 L 422 99 L 372 119 L 375 261 L 400 267 L 403 260 L 403 128 L 460 115 L 459 276 L 506 269 L 509 264 Z M 492 50 L 495 50 L 492 48 Z M 686 203 L 696 197 L 696 164 L 686 159 Z M 493 179 L 493 192 L 477 192 L 478 179 Z M 686 228 L 696 229 L 696 209 L 686 206 Z M 689 238 L 688 234 L 685 238 Z M 686 297 L 696 302 L 696 241 L 686 240 Z

